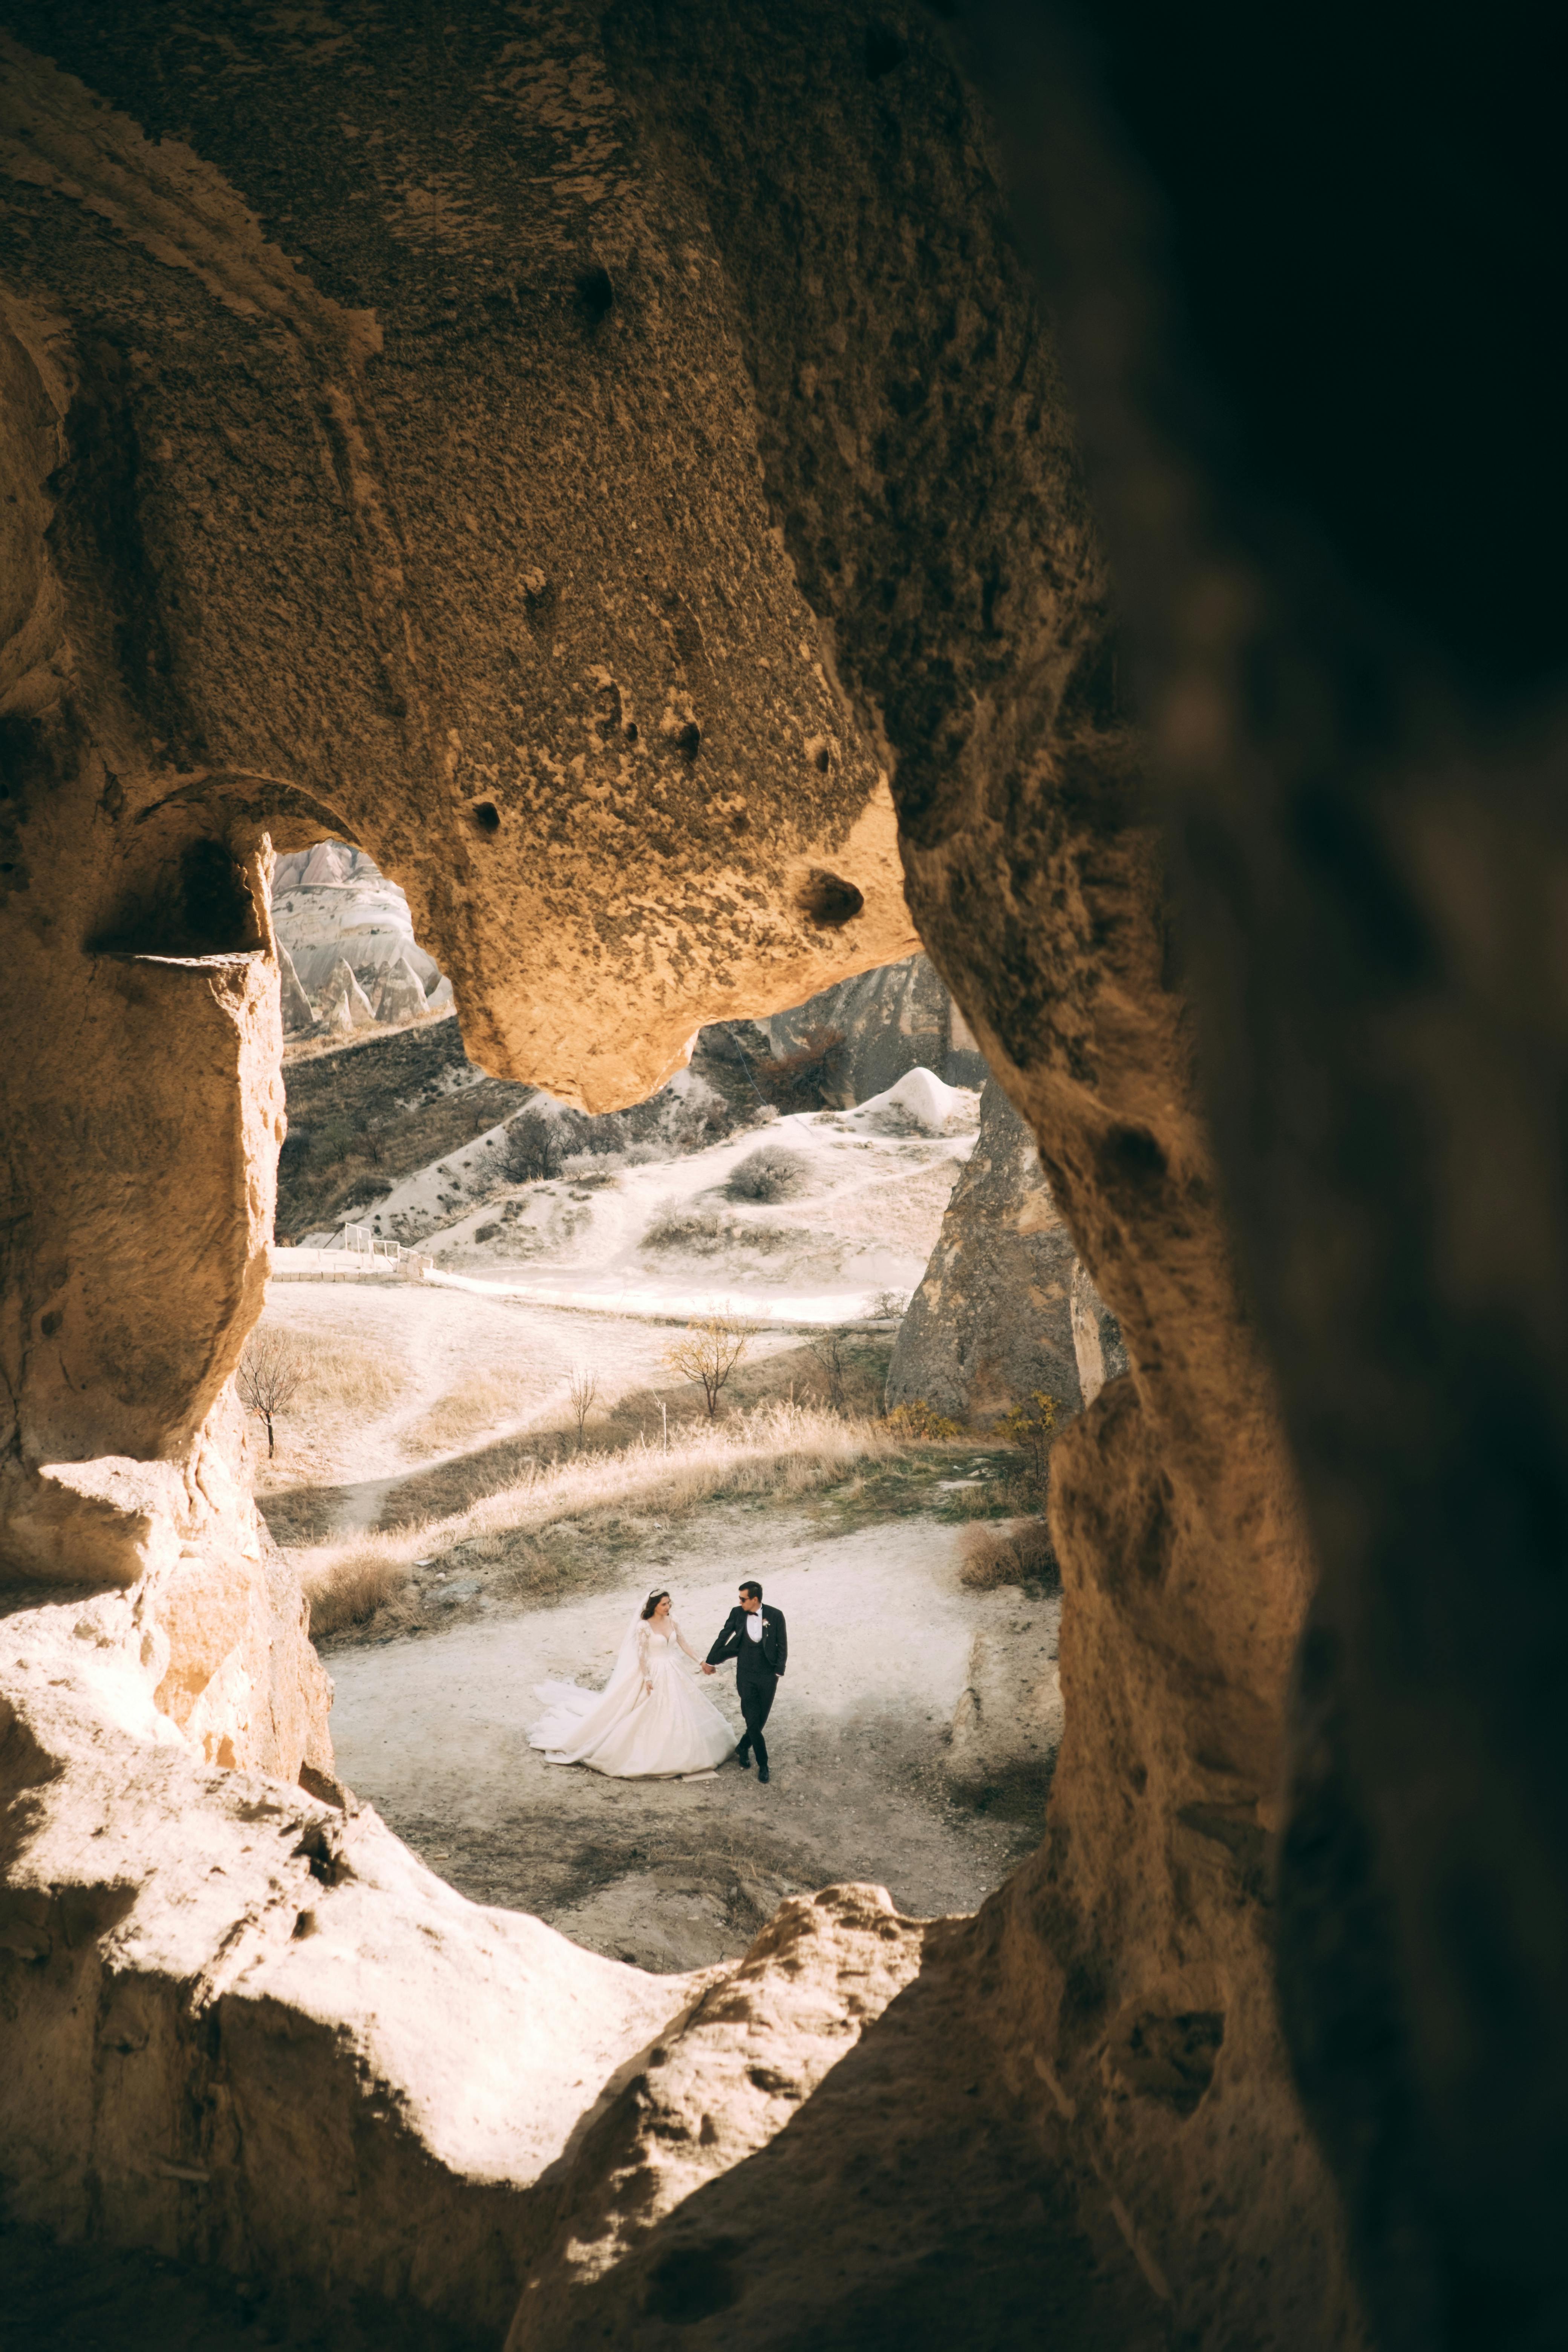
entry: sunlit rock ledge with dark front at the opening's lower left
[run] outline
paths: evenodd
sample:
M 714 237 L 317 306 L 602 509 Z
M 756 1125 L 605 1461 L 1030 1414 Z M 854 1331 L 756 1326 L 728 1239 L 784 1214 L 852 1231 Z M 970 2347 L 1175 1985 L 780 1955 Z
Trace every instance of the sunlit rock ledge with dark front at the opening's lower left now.
M 524 2192 L 696 1987 L 463 1903 L 369 1809 L 289 1788 L 289 1755 L 205 1764 L 148 1625 L 179 1606 L 0 1621 L 9 2209 L 494 2340 Z

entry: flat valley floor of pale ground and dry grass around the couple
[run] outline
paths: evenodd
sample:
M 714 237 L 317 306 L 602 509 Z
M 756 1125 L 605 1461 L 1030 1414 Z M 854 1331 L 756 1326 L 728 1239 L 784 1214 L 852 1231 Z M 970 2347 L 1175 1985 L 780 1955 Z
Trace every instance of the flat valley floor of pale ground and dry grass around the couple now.
M 682 1971 L 741 1955 L 785 1893 L 835 1879 L 884 1884 L 914 1917 L 969 1912 L 1039 1837 L 1039 1778 L 1004 1799 L 980 1771 L 976 1804 L 973 1757 L 969 1802 L 950 1776 L 954 1717 L 971 1733 L 983 1717 L 994 1778 L 1009 1780 L 1016 1698 L 1053 1656 L 1060 1606 L 961 1583 L 961 1512 L 985 1512 L 980 1484 L 997 1475 L 978 1444 L 898 1451 L 877 1423 L 818 1406 L 827 1454 L 795 1484 L 719 1475 L 684 1501 L 646 1482 L 618 1501 L 618 1446 L 646 1444 L 635 1461 L 661 1475 L 661 1399 L 675 1470 L 679 1442 L 708 1428 L 696 1390 L 663 1367 L 679 1327 L 393 1279 L 273 1284 L 263 1329 L 310 1367 L 259 1501 L 317 1592 L 317 1625 L 341 1628 L 327 1642 L 339 1773 L 461 1893 Z M 886 1341 L 856 1345 L 853 1409 L 875 1414 Z M 599 1383 L 583 1456 L 574 1371 Z M 757 1334 L 738 1402 L 799 1428 L 797 1390 L 820 1395 L 802 1338 Z M 858 1458 L 865 1444 L 882 1458 Z M 534 1510 L 531 1531 L 512 1531 L 550 1461 L 571 1491 L 550 1524 Z M 463 1534 L 463 1512 L 489 1512 L 496 1531 Z M 388 1597 L 360 1623 L 341 1597 L 329 1613 L 322 1576 L 378 1545 L 402 1562 Z M 602 1684 L 651 1585 L 672 1590 L 701 1653 L 743 1573 L 790 1621 L 769 1788 L 733 1762 L 689 1783 L 625 1783 L 529 1748 L 534 1684 Z M 733 1670 L 705 1689 L 738 1733 Z

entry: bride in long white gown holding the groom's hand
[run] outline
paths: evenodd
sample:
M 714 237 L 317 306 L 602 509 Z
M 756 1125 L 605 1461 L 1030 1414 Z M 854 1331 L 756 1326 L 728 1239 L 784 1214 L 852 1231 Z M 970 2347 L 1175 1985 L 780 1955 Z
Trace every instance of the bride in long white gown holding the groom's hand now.
M 670 1616 L 670 1595 L 649 1592 L 602 1691 L 581 1691 L 576 1682 L 534 1684 L 548 1715 L 529 1731 L 529 1745 L 543 1748 L 548 1764 L 588 1764 L 614 1780 L 677 1780 L 712 1771 L 733 1752 L 736 1733 L 703 1698 L 693 1672 L 698 1663 Z

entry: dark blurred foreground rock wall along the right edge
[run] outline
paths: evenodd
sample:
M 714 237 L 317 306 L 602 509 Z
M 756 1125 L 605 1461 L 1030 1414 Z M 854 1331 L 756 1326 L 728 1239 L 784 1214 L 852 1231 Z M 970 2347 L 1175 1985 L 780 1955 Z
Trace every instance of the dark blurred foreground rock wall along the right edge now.
M 1523 1665 L 1568 1635 L 1568 485 L 1544 322 L 1507 322 L 1563 240 L 1552 101 L 1512 16 L 1439 33 L 1415 108 L 1392 16 L 1354 82 L 1335 31 L 1284 16 L 1095 26 L 1086 80 L 1044 19 L 971 19 L 1124 583 L 1168 960 L 1321 1562 L 1286 2030 L 1378 2340 L 1537 2345 L 1568 2331 L 1568 1759 Z M 1453 355 L 1460 249 L 1495 263 Z

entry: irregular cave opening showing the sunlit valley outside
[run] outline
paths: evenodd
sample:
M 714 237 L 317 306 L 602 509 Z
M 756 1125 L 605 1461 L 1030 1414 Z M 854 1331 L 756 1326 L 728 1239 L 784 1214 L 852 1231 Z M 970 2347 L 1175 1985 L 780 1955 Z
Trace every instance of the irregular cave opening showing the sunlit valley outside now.
M 287 1136 L 237 1388 L 336 1778 L 461 1893 L 665 1973 L 842 1879 L 976 1910 L 1063 1729 L 1051 1444 L 1124 1355 L 929 960 L 710 1023 L 592 1115 L 468 1061 L 367 851 L 280 856 L 273 922 Z M 748 1576 L 788 1630 L 766 1788 L 733 1656 L 703 1672 Z M 675 1748 L 545 1762 L 536 1693 L 611 1682 L 661 1588 Z

